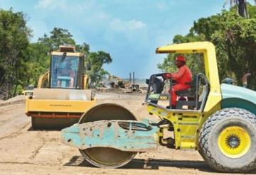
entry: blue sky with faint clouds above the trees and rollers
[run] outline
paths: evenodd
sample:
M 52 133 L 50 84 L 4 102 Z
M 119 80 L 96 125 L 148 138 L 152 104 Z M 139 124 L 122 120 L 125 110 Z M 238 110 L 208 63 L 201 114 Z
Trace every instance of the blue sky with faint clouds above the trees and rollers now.
M 223 10 L 224 0 L 0 0 L 0 9 L 23 11 L 36 42 L 53 28 L 65 28 L 76 43 L 90 51 L 109 52 L 113 62 L 104 68 L 117 77 L 149 78 L 159 73 L 166 55 L 156 47 L 186 35 L 199 18 Z

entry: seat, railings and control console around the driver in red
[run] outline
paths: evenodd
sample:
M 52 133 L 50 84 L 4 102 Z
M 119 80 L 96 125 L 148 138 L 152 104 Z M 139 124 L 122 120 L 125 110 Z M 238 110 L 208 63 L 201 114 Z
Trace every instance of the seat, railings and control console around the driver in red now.
M 149 85 L 146 94 L 146 103 L 159 108 L 171 110 L 171 86 L 175 81 L 164 79 L 164 74 L 153 74 L 146 80 Z M 177 104 L 175 110 L 202 111 L 206 103 L 209 92 L 209 83 L 206 76 L 202 73 L 196 74 L 190 83 L 191 88 L 184 91 L 176 91 Z

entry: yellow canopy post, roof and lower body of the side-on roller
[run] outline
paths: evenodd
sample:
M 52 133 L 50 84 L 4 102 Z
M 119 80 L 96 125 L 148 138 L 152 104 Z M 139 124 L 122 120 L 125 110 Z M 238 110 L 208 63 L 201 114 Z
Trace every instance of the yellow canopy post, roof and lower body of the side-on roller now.
M 176 149 L 197 149 L 198 134 L 201 126 L 211 114 L 221 109 L 221 92 L 215 47 L 209 42 L 182 43 L 159 47 L 156 49 L 156 53 L 203 53 L 206 77 L 210 83 L 210 91 L 203 111 L 168 110 L 151 106 L 150 104 L 148 104 L 147 108 L 149 113 L 158 115 L 173 123 Z M 164 138 L 164 130 L 159 132 L 159 137 Z

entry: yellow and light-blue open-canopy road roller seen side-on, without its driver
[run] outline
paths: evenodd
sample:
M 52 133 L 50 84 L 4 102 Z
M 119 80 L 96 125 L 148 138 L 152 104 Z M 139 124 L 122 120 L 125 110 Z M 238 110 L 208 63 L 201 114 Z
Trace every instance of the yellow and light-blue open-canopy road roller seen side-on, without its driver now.
M 101 104 L 82 115 L 78 124 L 65 128 L 61 140 L 80 150 L 87 162 L 102 168 L 127 164 L 137 152 L 170 149 L 198 150 L 217 171 L 245 173 L 256 169 L 256 92 L 220 84 L 215 47 L 209 42 L 166 45 L 156 53 L 201 53 L 205 72 L 191 81 L 191 88 L 176 91 L 171 106 L 172 79 L 165 73 L 147 81 L 145 103 L 160 120 L 137 120 L 117 104 Z M 182 98 L 181 98 L 182 97 Z

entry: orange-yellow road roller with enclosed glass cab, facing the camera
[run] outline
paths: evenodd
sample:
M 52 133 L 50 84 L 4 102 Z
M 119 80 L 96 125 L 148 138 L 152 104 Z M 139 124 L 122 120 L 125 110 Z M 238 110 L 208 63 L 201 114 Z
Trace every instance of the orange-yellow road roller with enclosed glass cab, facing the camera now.
M 85 57 L 75 47 L 62 45 L 50 52 L 50 69 L 38 80 L 33 96 L 26 98 L 26 115 L 33 129 L 60 129 L 77 123 L 80 116 L 95 106 L 87 89 Z

